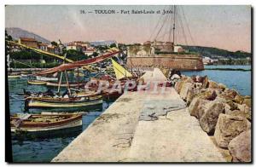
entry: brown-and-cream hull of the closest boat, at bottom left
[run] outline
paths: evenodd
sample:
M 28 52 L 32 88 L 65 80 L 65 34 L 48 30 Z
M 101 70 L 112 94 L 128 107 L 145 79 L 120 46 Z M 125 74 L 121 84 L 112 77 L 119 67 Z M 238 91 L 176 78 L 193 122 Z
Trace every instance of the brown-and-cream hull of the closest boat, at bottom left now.
M 67 130 L 81 130 L 81 114 L 28 114 L 28 117 L 11 117 L 11 132 L 15 136 L 48 136 Z M 48 135 L 47 135 L 48 134 Z

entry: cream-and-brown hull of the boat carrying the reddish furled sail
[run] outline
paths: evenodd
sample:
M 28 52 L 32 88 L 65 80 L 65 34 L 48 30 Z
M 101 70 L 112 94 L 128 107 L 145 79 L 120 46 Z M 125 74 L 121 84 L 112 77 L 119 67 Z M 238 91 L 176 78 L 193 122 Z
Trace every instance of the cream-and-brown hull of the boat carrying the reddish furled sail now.
M 102 104 L 102 95 L 80 97 L 27 97 L 25 106 L 28 108 L 71 108 L 90 107 Z

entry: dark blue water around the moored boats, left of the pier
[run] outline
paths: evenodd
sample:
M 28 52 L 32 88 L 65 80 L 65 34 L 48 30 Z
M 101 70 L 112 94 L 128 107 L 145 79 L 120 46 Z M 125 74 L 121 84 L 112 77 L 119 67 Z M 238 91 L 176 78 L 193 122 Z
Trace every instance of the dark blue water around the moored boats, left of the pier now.
M 9 79 L 9 95 L 15 96 L 23 92 L 23 88 L 31 91 L 46 91 L 45 86 L 27 85 L 26 78 Z M 9 99 L 10 113 L 24 112 L 24 101 L 21 97 Z M 79 112 L 89 112 L 83 116 L 83 128 L 85 130 L 90 123 L 92 123 L 103 111 L 105 111 L 112 102 L 103 101 L 101 106 L 94 108 L 79 108 Z M 41 110 L 46 112 L 47 110 Z M 63 112 L 67 111 L 63 110 Z M 38 110 L 30 110 L 30 112 L 38 113 Z M 49 162 L 61 150 L 73 141 L 82 131 L 69 133 L 65 136 L 51 137 L 47 139 L 25 139 L 25 140 L 12 140 L 13 160 L 14 162 Z

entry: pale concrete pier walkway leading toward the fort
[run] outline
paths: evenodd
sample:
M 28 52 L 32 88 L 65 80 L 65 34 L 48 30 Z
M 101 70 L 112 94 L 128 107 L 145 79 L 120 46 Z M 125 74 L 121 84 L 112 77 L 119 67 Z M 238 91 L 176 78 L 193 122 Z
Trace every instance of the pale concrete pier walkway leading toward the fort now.
M 157 68 L 143 78 L 146 82 L 166 80 Z M 166 88 L 166 92 L 121 95 L 52 162 L 224 162 L 186 107 L 168 111 L 172 107 L 166 104 L 183 101 L 175 89 Z M 166 114 L 140 120 L 147 108 Z

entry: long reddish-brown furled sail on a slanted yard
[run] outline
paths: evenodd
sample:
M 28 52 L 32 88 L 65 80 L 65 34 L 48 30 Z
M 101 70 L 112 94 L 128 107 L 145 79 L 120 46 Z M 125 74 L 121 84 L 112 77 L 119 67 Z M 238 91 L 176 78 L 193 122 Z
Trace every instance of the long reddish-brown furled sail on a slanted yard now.
M 74 61 L 73 63 L 62 64 L 60 66 L 55 66 L 53 68 L 49 68 L 42 72 L 38 72 L 38 73 L 36 73 L 36 75 L 45 75 L 45 74 L 49 74 L 49 73 L 63 72 L 65 70 L 71 70 L 71 69 L 78 68 L 81 66 L 95 64 L 97 62 L 101 62 L 102 60 L 106 60 L 118 53 L 119 53 L 119 50 L 113 49 L 111 53 L 108 53 L 106 55 L 100 55 L 100 56 L 97 56 L 97 57 L 94 57 L 91 59 L 87 59 L 87 60 L 78 60 L 78 61 Z

